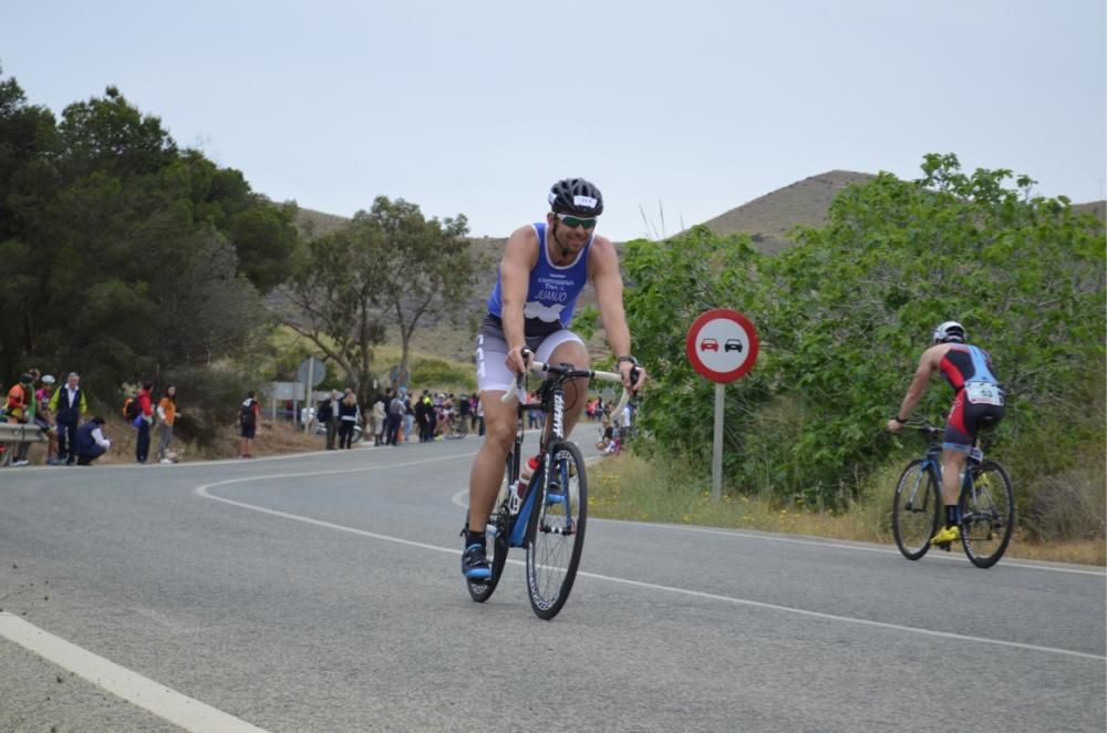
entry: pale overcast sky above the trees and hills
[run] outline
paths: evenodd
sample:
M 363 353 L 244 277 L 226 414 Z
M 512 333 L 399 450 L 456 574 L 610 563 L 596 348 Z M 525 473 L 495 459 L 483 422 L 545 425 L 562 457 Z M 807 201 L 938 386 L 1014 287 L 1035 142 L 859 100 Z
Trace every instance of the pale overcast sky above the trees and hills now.
M 474 236 L 542 217 L 560 177 L 600 231 L 675 234 L 834 168 L 925 153 L 1107 197 L 1104 0 L 0 0 L 29 101 L 120 87 L 276 200 L 377 195 Z

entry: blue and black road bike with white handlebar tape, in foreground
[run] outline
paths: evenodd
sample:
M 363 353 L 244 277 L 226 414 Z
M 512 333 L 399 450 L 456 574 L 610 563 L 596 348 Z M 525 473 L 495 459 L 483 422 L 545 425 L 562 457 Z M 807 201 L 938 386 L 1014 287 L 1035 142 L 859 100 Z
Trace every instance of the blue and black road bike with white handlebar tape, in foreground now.
M 565 436 L 565 390 L 575 379 L 621 382 L 614 372 L 576 369 L 572 364 L 531 362 L 530 370 L 545 378 L 536 392 L 537 403 L 519 400 L 515 443 L 507 455 L 506 481 L 493 505 L 485 529 L 492 577 L 466 580 L 473 600 L 488 600 L 504 575 L 511 547 L 527 550 L 527 595 L 530 607 L 542 619 L 560 612 L 572 590 L 584 547 L 588 520 L 588 481 L 580 448 Z M 632 379 L 637 379 L 637 374 Z M 525 375 L 519 375 L 515 391 L 504 401 L 526 395 Z M 625 404 L 630 394 L 623 390 Z M 546 414 L 538 452 L 538 464 L 520 495 L 524 421 L 527 410 L 539 407 Z M 621 407 L 620 407 L 621 409 Z M 467 529 L 467 525 L 466 525 Z M 464 530 L 463 530 L 464 531 Z

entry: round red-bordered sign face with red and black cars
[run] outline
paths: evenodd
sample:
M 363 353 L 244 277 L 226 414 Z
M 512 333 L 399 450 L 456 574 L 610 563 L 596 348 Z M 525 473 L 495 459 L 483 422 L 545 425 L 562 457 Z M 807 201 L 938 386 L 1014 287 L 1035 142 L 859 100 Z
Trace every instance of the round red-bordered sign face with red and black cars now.
M 757 360 L 757 331 L 738 311 L 716 308 L 695 319 L 684 349 L 692 368 L 712 382 L 733 382 Z

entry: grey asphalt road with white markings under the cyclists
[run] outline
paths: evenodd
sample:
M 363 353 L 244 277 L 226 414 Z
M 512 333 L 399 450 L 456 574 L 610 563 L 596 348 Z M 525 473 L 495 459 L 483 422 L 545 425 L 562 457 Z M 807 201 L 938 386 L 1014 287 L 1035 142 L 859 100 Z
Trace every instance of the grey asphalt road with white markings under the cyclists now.
M 477 447 L 0 472 L 0 733 L 1107 727 L 1101 569 L 593 519 L 474 603 Z

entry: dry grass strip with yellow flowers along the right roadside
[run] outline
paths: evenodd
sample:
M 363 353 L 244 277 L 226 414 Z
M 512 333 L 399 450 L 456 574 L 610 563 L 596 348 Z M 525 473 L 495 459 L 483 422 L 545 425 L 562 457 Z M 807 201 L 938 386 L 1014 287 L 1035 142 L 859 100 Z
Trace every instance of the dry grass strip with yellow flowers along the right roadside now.
M 630 454 L 610 456 L 589 472 L 588 509 L 606 519 L 662 522 L 758 529 L 894 546 L 891 495 L 898 476 L 878 476 L 871 498 L 842 512 L 779 508 L 758 497 L 711 497 L 710 482 L 689 483 L 673 465 L 659 465 Z M 1037 544 L 1015 533 L 1006 557 L 1082 565 L 1107 565 L 1101 539 Z

